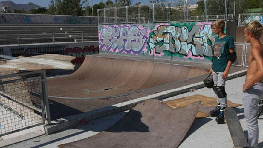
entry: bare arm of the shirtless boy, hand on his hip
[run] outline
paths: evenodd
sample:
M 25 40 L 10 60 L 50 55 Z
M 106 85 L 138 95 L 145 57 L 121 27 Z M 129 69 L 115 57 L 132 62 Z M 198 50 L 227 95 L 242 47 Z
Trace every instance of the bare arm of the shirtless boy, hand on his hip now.
M 256 61 L 257 72 L 254 74 L 252 79 L 245 83 L 243 86 L 243 92 L 253 86 L 256 82 L 259 82 L 263 77 L 263 58 L 259 48 L 252 48 L 251 55 Z

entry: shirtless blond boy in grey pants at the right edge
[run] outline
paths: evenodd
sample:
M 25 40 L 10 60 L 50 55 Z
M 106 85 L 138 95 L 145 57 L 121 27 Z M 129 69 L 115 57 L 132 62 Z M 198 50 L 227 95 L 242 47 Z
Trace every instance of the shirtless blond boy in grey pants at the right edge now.
M 251 21 L 245 26 L 244 37 L 252 49 L 248 57 L 249 67 L 243 85 L 242 100 L 248 128 L 248 143 L 252 148 L 258 147 L 257 113 L 259 99 L 263 95 L 263 46 L 259 40 L 261 33 L 262 25 L 259 22 Z

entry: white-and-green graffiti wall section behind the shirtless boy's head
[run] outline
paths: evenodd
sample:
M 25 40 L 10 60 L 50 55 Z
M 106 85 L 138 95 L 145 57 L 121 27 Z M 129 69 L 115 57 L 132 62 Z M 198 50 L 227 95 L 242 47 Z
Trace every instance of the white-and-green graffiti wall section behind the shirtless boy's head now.
M 244 26 L 250 21 L 258 21 L 263 25 L 263 13 L 242 13 L 238 16 L 238 26 Z

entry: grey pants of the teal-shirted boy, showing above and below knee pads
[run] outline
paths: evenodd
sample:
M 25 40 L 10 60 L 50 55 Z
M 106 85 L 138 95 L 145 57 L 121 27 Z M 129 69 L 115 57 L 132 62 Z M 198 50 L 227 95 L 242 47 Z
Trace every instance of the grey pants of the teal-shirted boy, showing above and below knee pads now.
M 224 86 L 226 85 L 226 80 L 222 78 L 223 72 L 215 72 L 213 71 L 213 81 L 214 85 L 217 86 Z M 227 97 L 219 98 L 217 95 L 215 95 L 217 98 L 217 104 L 220 104 L 221 109 L 224 107 L 227 107 Z

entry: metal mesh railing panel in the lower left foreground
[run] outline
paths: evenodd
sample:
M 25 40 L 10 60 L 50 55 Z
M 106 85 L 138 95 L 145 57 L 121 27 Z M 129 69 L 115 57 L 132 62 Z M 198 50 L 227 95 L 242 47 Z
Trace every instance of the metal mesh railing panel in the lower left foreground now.
M 0 72 L 0 136 L 50 124 L 45 70 Z

